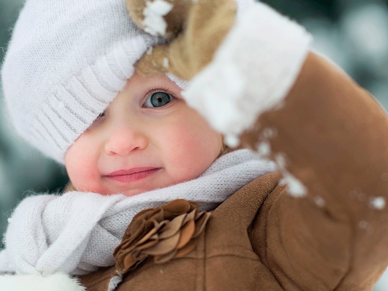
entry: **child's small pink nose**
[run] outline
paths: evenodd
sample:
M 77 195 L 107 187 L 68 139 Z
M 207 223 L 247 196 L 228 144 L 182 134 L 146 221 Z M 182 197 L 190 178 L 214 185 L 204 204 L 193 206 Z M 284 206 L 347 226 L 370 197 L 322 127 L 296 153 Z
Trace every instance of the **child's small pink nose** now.
M 148 144 L 146 135 L 141 130 L 119 127 L 112 131 L 105 144 L 105 152 L 109 155 L 129 155 L 144 149 Z

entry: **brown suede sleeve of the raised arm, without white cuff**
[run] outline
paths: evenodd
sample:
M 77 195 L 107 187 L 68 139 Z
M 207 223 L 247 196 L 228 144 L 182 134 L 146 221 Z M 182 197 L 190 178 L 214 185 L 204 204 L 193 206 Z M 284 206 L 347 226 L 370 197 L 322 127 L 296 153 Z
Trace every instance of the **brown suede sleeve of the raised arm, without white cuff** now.
M 271 157 L 285 156 L 307 189 L 302 198 L 286 189 L 263 206 L 261 259 L 286 290 L 370 290 L 388 264 L 388 206 L 372 203 L 388 196 L 386 113 L 309 53 L 284 103 L 257 125 L 243 145 L 255 148 L 272 129 Z

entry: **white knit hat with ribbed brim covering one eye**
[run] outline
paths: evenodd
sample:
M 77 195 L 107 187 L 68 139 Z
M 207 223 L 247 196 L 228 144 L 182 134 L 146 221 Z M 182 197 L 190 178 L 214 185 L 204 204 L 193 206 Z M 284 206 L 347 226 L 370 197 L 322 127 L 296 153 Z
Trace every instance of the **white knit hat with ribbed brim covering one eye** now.
M 237 1 L 240 8 L 245 1 Z M 26 0 L 1 70 L 16 131 L 64 163 L 68 147 L 123 89 L 134 63 L 162 41 L 135 26 L 126 0 Z

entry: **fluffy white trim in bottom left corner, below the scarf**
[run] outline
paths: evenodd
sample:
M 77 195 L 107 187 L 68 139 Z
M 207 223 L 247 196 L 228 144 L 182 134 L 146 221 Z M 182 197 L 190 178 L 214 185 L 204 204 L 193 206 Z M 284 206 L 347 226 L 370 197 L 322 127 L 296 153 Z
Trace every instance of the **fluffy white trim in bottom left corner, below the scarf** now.
M 0 275 L 1 291 L 86 291 L 76 278 L 65 274 Z

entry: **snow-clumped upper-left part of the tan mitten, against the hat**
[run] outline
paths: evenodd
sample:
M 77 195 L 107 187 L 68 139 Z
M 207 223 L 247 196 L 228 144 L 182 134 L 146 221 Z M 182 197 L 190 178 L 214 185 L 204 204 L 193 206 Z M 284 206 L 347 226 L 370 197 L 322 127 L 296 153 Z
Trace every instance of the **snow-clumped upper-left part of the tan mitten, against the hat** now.
M 192 0 L 127 0 L 133 22 L 145 32 L 174 39 L 182 31 Z

